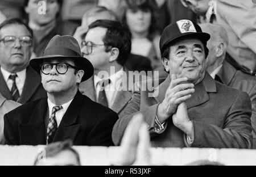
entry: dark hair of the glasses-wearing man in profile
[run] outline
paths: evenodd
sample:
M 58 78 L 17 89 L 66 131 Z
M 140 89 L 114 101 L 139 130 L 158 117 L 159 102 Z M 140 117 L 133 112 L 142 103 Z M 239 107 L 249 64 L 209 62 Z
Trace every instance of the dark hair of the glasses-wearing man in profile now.
M 109 52 L 113 47 L 118 48 L 117 62 L 123 66 L 131 52 L 131 33 L 129 29 L 123 26 L 121 22 L 114 20 L 96 20 L 89 25 L 89 29 L 96 27 L 108 29 L 103 39 L 106 45 L 105 50 Z

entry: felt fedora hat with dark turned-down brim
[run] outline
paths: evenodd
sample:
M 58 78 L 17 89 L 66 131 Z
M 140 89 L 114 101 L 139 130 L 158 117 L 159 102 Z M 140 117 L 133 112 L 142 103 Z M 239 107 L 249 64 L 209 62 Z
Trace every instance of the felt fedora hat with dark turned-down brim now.
M 32 58 L 30 60 L 30 66 L 37 72 L 40 73 L 40 64 L 43 63 L 44 59 L 72 59 L 76 62 L 77 67 L 84 70 L 84 75 L 81 81 L 86 81 L 93 75 L 93 65 L 89 60 L 81 56 L 81 50 L 77 40 L 69 35 L 60 36 L 56 35 L 49 41 L 46 49 L 44 50 L 43 56 Z

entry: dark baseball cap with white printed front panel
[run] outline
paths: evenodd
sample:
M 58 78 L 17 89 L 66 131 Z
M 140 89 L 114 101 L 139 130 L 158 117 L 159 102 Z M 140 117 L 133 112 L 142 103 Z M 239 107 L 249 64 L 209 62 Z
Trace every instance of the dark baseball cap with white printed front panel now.
M 169 47 L 174 41 L 181 37 L 189 36 L 201 40 L 205 46 L 207 45 L 207 41 L 210 39 L 210 35 L 206 32 L 202 32 L 201 27 L 195 22 L 187 19 L 179 20 L 164 28 L 159 43 L 161 53 L 163 53 L 164 49 Z

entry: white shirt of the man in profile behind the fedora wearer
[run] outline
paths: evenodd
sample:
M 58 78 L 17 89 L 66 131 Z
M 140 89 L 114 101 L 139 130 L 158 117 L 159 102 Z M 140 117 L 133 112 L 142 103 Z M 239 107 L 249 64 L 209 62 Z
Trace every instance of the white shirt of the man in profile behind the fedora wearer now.
M 116 73 L 110 75 L 109 78 L 100 78 L 97 75 L 94 75 L 94 88 L 96 91 L 96 100 L 98 100 L 98 94 L 101 90 L 101 86 L 98 85 L 97 83 L 102 81 L 103 79 L 110 79 L 109 85 L 105 87 L 105 93 L 106 93 L 106 98 L 108 100 L 109 108 L 112 108 L 115 97 L 117 96 L 117 92 L 119 90 L 120 84 L 122 83 L 121 79 L 123 79 L 124 73 L 125 71 L 122 68 Z

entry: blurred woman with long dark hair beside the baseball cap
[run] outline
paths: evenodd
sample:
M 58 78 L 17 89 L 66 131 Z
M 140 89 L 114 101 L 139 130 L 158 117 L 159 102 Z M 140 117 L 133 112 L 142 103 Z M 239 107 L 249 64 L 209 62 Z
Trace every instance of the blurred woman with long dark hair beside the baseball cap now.
M 153 70 L 163 70 L 160 62 L 159 39 L 156 32 L 154 0 L 127 0 L 123 23 L 131 31 L 131 53 L 148 57 Z

